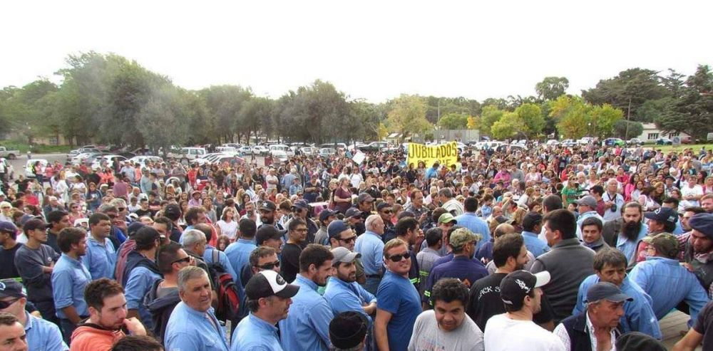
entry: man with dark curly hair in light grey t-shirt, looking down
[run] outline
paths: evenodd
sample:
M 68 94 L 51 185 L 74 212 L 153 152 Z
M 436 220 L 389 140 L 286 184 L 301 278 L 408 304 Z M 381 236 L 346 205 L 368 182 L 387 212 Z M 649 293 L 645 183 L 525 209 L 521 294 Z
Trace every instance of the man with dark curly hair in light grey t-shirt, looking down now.
M 483 332 L 466 315 L 468 287 L 455 278 L 434 285 L 434 309 L 416 318 L 409 350 L 482 351 Z

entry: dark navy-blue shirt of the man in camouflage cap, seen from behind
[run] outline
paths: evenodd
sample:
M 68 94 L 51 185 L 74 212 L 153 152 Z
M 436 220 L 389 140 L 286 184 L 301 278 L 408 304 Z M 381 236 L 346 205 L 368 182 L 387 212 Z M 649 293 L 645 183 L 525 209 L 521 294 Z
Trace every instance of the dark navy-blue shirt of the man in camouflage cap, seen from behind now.
M 429 280 L 426 281 L 426 290 L 424 290 L 424 302 L 430 303 L 431 289 L 443 278 L 458 278 L 468 288 L 478 279 L 487 277 L 488 269 L 483 266 L 483 263 L 478 260 L 467 258 L 466 256 L 454 256 L 450 262 L 434 266 L 429 274 Z

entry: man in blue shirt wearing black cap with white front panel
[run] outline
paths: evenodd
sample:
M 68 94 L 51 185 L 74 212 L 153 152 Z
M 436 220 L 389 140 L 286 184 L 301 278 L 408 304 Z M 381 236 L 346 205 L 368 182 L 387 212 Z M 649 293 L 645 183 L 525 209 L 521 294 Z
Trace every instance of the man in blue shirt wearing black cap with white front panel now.
M 287 318 L 292 297 L 299 289 L 270 269 L 255 273 L 245 285 L 250 314 L 235 328 L 230 351 L 283 351 L 275 325 Z

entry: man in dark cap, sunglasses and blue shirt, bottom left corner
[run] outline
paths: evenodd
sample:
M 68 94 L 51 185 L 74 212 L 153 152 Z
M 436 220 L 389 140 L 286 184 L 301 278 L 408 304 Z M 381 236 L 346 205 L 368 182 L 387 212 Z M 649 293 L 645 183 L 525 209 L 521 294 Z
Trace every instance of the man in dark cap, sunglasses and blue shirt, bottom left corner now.
M 57 325 L 27 313 L 26 303 L 20 283 L 14 279 L 0 281 L 0 312 L 14 315 L 24 325 L 28 350 L 69 350 Z

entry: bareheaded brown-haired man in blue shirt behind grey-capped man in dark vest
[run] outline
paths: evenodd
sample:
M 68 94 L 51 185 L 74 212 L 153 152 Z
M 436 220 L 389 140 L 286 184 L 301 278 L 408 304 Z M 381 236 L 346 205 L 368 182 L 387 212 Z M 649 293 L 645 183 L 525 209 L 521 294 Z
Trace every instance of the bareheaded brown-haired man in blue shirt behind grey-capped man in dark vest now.
M 643 332 L 646 335 L 662 339 L 659 321 L 652 308 L 652 300 L 637 283 L 631 281 L 626 275 L 627 261 L 624 254 L 613 248 L 604 248 L 594 256 L 595 274 L 588 276 L 580 284 L 577 295 L 577 305 L 573 315 L 582 313 L 585 306 L 586 295 L 589 289 L 600 282 L 617 285 L 625 294 L 634 300 L 624 306 L 624 315 L 619 328 L 625 332 Z

